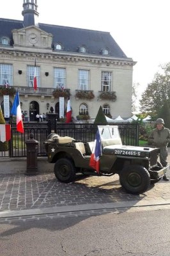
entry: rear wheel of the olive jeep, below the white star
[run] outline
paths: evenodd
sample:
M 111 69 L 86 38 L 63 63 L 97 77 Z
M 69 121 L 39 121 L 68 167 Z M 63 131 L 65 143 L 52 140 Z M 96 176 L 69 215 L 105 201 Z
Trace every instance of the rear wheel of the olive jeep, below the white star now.
M 61 158 L 54 165 L 54 174 L 61 182 L 73 182 L 75 180 L 75 170 L 72 161 Z

